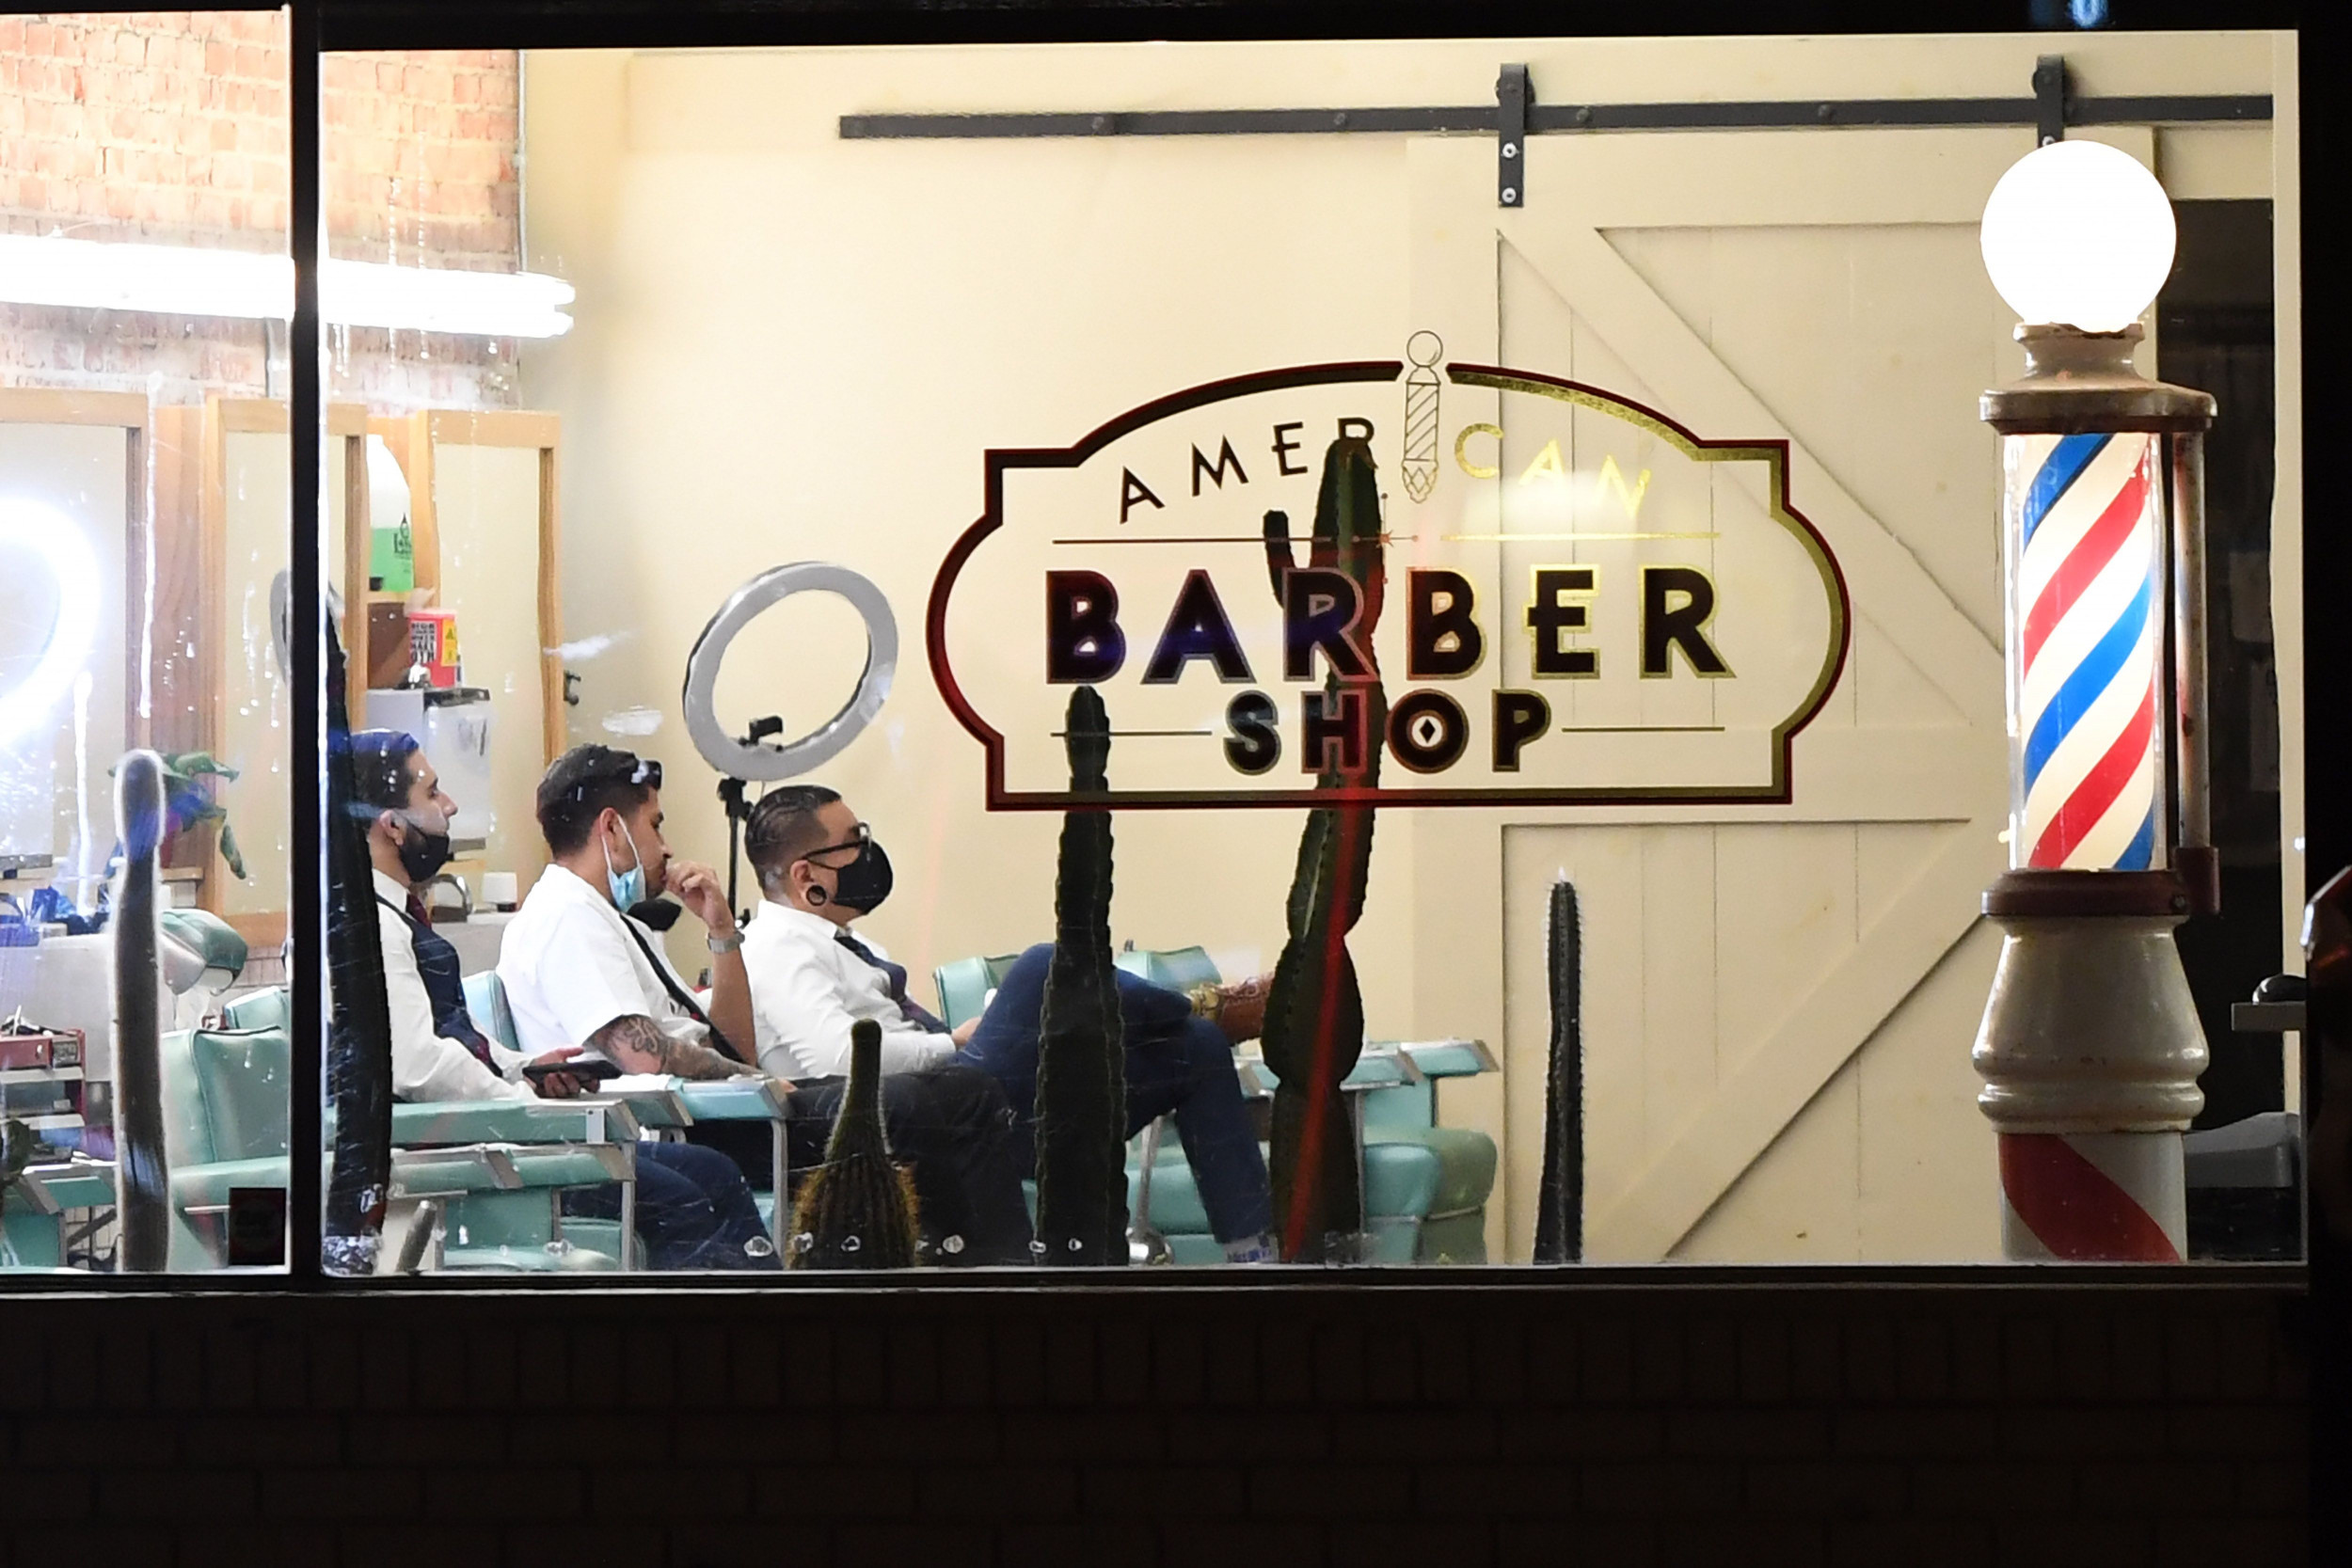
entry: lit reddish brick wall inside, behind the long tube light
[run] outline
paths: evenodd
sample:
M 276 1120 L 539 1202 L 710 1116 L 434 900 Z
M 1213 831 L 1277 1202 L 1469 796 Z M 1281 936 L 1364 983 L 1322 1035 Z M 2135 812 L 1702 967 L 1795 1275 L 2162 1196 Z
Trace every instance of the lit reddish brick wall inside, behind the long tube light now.
M 0 230 L 285 252 L 287 24 L 278 12 L 0 16 Z M 520 266 L 517 61 L 336 54 L 322 73 L 334 256 Z M 336 397 L 510 407 L 513 343 L 334 331 Z M 0 383 L 285 395 L 261 322 L 0 306 Z

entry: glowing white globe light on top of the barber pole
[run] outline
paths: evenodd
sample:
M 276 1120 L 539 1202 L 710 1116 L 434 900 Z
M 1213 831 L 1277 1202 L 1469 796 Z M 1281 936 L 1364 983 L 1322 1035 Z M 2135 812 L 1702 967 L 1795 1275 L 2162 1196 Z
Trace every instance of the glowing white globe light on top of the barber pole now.
M 1980 237 L 1992 287 L 2034 327 L 2122 331 L 2173 270 L 2164 186 L 2100 141 L 2053 141 L 2013 162 Z

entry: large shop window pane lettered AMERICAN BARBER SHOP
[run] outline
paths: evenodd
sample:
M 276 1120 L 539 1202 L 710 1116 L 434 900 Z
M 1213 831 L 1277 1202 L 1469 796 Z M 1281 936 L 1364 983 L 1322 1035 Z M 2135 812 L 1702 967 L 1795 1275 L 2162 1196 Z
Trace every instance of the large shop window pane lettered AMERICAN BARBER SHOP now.
M 1839 101 L 2034 68 L 1759 47 Z M 1609 49 L 1628 99 L 1757 80 Z M 2145 49 L 2100 89 L 2270 89 L 2267 45 Z M 2256 132 L 2103 132 L 2204 226 L 2138 369 L 2227 381 L 2223 912 L 2176 943 L 2124 898 L 2114 983 L 2044 997 L 2065 898 L 2199 842 L 2159 642 L 2138 731 L 2056 679 L 2124 578 L 2042 564 L 2129 512 L 2159 625 L 2173 447 L 2037 501 L 2077 449 L 1978 416 L 2025 371 L 1978 219 L 2030 127 L 1094 118 L 1491 125 L 1491 54 L 329 59 L 336 259 L 409 292 L 327 388 L 334 820 L 386 976 L 332 1072 L 397 1100 L 365 1267 L 2300 1251 L 2300 1086 L 2227 1011 L 2300 882 L 2270 327 L 2230 296 L 2267 313 Z M 2030 773 L 2011 708 L 2063 719 Z M 1987 919 L 2006 867 L 2089 865 L 2013 842 L 2046 818 L 2093 882 Z M 2037 1056 L 2114 994 L 2169 1020 L 2159 1114 Z

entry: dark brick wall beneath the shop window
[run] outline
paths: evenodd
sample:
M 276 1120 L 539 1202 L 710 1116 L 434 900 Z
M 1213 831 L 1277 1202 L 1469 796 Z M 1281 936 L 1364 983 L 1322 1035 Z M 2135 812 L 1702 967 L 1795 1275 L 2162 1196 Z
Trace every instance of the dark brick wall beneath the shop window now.
M 2293 1563 L 2291 1286 L 0 1298 L 9 1563 Z

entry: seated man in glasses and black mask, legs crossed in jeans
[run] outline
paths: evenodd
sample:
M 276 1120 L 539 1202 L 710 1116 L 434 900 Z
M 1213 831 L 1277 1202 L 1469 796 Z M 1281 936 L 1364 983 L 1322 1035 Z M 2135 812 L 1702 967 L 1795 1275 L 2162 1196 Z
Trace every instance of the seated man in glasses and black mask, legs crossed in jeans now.
M 1035 1164 L 1040 1016 L 1051 943 L 1023 952 L 981 1018 L 957 1030 L 906 994 L 906 969 L 851 929 L 891 891 L 889 856 L 840 795 L 779 785 L 753 806 L 743 849 L 764 903 L 743 936 L 760 1063 L 826 1070 L 849 1025 L 882 1025 L 884 1072 L 936 1072 L 964 1060 L 995 1077 L 1014 1107 L 1014 1159 Z M 1232 1262 L 1275 1255 L 1265 1154 L 1242 1100 L 1232 1046 L 1265 1018 L 1268 980 L 1202 987 L 1200 997 L 1120 973 L 1127 1039 L 1127 1133 L 1171 1114 L 1209 1229 Z M 884 1079 L 891 1084 L 896 1079 Z

